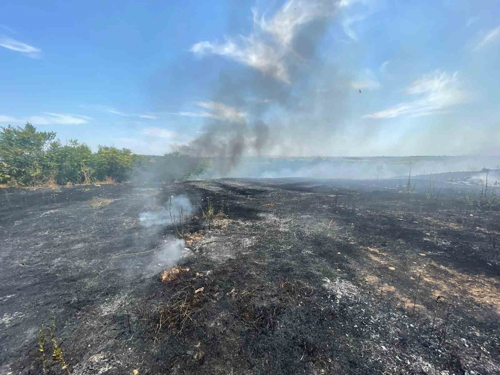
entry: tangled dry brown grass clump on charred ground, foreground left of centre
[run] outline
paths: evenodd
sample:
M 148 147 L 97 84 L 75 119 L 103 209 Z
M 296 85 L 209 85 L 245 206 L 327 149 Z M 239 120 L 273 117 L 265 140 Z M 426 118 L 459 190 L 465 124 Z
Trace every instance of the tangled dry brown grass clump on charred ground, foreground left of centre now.
M 194 315 L 201 311 L 198 308 L 203 293 L 179 290 L 166 302 L 156 305 L 148 320 L 153 323 L 154 340 L 163 335 L 180 334 L 189 324 L 194 324 Z

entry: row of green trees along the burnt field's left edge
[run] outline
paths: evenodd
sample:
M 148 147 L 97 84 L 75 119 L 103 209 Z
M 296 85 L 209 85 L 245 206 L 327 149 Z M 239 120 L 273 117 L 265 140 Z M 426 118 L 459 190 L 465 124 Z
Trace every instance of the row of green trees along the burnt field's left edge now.
M 99 145 L 92 152 L 76 139 L 62 144 L 54 131 L 37 131 L 29 122 L 23 127 L 1 127 L 0 131 L 0 183 L 39 186 L 105 179 L 173 181 L 194 178 L 208 166 L 206 161 L 178 151 L 146 156 L 129 148 Z

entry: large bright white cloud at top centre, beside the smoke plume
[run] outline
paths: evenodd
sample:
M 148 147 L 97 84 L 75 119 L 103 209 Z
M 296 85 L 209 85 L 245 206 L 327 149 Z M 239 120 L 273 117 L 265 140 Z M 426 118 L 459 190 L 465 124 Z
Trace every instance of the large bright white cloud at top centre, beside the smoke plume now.
M 290 0 L 268 21 L 264 16 L 259 18 L 252 9 L 255 31 L 249 36 L 226 38 L 222 43 L 200 41 L 192 45 L 190 51 L 225 56 L 290 83 L 286 58 L 298 56 L 290 47 L 297 31 L 305 23 L 329 16 L 338 5 L 338 1 L 332 0 Z

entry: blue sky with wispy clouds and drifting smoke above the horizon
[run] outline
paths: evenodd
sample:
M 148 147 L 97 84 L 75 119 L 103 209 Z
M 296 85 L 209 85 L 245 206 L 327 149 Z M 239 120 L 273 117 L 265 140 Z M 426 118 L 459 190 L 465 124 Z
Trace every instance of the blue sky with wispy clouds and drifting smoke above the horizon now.
M 499 52 L 498 1 L 4 0 L 0 125 L 148 154 L 256 120 L 271 141 L 244 153 L 500 154 Z

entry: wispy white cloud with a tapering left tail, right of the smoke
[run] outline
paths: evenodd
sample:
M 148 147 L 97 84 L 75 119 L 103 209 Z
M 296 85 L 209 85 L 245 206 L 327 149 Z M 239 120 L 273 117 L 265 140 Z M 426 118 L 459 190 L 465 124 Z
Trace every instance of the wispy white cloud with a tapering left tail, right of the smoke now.
M 407 87 L 406 92 L 420 95 L 419 99 L 401 102 L 387 109 L 365 114 L 364 118 L 390 118 L 398 116 L 423 116 L 442 113 L 453 105 L 464 102 L 467 93 L 460 89 L 458 72 L 452 75 L 436 70 L 424 74 Z

